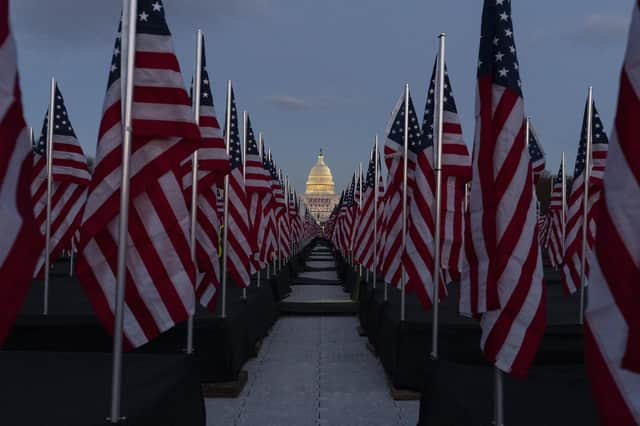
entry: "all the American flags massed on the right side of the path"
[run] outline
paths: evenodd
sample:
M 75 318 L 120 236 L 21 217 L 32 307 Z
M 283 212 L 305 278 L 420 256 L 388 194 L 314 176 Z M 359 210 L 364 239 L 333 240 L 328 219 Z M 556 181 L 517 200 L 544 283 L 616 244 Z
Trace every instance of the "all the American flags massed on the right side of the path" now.
M 391 114 L 383 154 L 386 188 L 382 178 L 374 180 L 382 176 L 376 145 L 366 178 L 354 175 L 325 226 L 326 236 L 353 264 L 381 272 L 391 285 L 405 285 L 425 309 L 434 303 L 435 282 L 441 295 L 445 284 L 459 282 L 459 311 L 480 319 L 486 358 L 516 376 L 524 376 L 533 363 L 546 326 L 543 251 L 562 269 L 568 293 L 580 288 L 584 257 L 590 282 L 589 372 L 603 424 L 616 425 L 640 422 L 640 322 L 633 313 L 640 300 L 640 254 L 633 241 L 640 215 L 640 163 L 634 160 L 640 129 L 632 118 L 640 111 L 639 6 L 636 2 L 611 148 L 590 96 L 573 181 L 566 188 L 563 163 L 552 177 L 546 214 L 534 195 L 546 160 L 524 112 L 511 2 L 485 0 L 472 155 L 462 139 L 446 67 L 443 78 L 440 264 L 434 268 L 435 65 L 422 124 L 408 87 Z M 359 194 L 362 202 L 354 202 Z M 373 217 L 376 202 L 379 215 Z

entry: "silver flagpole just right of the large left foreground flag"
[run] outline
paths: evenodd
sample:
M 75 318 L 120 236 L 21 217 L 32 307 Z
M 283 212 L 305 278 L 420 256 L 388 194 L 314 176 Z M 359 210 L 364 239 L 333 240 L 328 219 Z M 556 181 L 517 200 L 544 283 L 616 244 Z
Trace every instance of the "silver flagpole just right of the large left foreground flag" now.
M 193 81 L 193 116 L 196 126 L 200 127 L 200 90 L 202 82 L 202 31 L 196 33 L 196 72 Z M 197 211 L 198 211 L 198 150 L 193 151 L 191 155 L 191 229 L 189 234 L 189 247 L 191 249 L 191 261 L 196 271 L 196 280 L 198 279 L 198 262 L 196 261 L 196 227 L 197 227 Z M 194 292 L 194 310 L 195 304 L 198 303 Z M 193 353 L 193 316 L 189 314 L 187 321 L 187 354 Z

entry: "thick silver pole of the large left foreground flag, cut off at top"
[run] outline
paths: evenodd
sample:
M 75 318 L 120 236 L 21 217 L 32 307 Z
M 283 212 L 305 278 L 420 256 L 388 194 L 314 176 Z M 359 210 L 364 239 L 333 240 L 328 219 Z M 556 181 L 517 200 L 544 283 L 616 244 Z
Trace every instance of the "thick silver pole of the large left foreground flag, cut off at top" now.
M 126 55 L 121 55 L 120 69 L 123 96 L 122 108 L 122 176 L 120 181 L 120 220 L 118 223 L 118 271 L 116 281 L 116 297 L 113 331 L 113 366 L 111 370 L 111 407 L 107 421 L 112 424 L 120 423 L 124 418 L 120 413 L 122 398 L 122 331 L 124 322 L 124 292 L 127 274 L 127 236 L 129 230 L 129 166 L 131 157 L 131 110 L 133 107 L 133 70 L 135 68 L 136 51 L 136 23 L 138 18 L 138 1 L 123 0 L 122 18 L 122 48 L 126 48 Z

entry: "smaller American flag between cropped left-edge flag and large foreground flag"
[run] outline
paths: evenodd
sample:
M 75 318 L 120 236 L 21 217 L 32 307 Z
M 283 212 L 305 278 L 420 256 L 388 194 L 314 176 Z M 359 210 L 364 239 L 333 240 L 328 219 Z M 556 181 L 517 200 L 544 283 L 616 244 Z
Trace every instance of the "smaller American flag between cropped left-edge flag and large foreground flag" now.
M 55 260 L 71 247 L 71 239 L 80 227 L 82 211 L 87 200 L 91 175 L 87 159 L 78 143 L 58 85 L 54 93 L 53 158 L 51 183 L 51 251 Z M 47 132 L 49 111 L 45 114 L 40 138 L 33 141 L 33 175 L 31 196 L 36 223 L 46 234 L 47 222 Z M 36 276 L 44 276 L 44 251 L 40 254 Z

